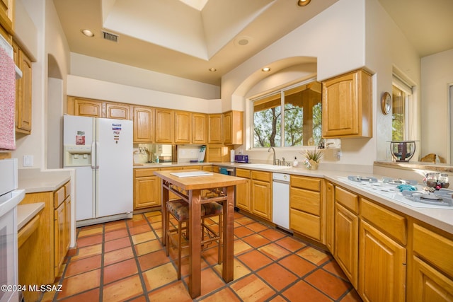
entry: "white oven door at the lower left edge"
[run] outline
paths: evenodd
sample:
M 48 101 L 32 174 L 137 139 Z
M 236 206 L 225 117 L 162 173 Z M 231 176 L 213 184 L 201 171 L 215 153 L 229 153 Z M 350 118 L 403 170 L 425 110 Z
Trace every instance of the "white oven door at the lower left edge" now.
M 0 216 L 0 302 L 19 299 L 16 209 Z

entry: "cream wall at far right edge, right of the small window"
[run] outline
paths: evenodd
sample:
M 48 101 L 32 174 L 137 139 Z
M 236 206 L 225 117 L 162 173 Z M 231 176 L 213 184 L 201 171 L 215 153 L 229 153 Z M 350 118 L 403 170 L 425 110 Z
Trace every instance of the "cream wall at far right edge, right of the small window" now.
M 423 57 L 422 65 L 422 154 L 437 153 L 449 159 L 449 85 L 453 84 L 453 50 Z M 452 165 L 452 163 L 449 163 Z

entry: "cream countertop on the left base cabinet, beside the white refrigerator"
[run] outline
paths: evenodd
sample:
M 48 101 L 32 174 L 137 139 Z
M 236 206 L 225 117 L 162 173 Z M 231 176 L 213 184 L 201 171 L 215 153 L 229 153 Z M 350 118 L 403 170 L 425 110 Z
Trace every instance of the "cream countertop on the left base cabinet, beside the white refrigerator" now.
M 25 193 L 52 192 L 71 179 L 69 170 L 19 169 L 18 188 Z

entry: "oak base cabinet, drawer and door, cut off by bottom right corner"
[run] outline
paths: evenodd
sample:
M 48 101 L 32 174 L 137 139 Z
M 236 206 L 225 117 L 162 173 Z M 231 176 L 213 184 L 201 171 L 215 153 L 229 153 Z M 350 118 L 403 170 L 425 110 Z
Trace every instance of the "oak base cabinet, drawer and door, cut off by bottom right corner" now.
M 453 301 L 453 236 L 413 223 L 413 255 L 408 267 L 408 300 Z

